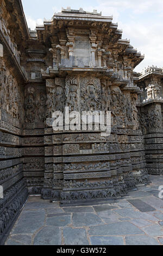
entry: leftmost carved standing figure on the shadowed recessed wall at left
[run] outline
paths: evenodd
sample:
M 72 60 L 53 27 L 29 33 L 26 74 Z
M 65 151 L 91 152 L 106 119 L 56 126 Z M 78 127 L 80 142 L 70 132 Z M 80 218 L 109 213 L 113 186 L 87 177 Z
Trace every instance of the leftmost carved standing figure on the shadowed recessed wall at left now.
M 33 94 L 28 94 L 25 97 L 25 122 L 26 123 L 33 123 L 35 119 L 35 111 L 34 111 L 34 95 Z

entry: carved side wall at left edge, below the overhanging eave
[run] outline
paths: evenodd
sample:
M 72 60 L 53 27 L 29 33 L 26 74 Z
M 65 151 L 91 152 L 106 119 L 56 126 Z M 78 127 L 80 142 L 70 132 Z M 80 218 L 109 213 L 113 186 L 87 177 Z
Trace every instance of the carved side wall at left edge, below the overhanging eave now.
M 23 88 L 0 58 L 0 240 L 17 217 L 28 191 L 23 175 Z M 3 224 L 2 224 L 3 223 Z

